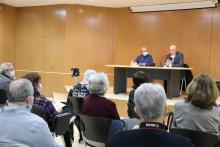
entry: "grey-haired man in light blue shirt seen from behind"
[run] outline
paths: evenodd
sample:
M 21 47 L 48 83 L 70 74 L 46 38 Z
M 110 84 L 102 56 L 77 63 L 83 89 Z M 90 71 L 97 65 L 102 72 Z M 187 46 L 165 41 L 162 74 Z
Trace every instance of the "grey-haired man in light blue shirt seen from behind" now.
M 56 147 L 46 122 L 30 112 L 34 89 L 29 80 L 10 84 L 11 102 L 0 113 L 0 142 L 10 140 L 31 147 Z

